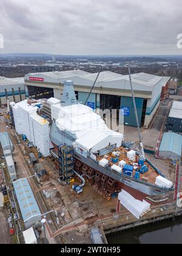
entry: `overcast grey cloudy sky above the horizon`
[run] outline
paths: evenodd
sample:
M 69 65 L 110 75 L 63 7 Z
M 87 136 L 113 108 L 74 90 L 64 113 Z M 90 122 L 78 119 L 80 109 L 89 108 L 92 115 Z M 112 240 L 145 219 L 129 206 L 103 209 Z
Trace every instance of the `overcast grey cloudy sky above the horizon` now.
M 0 53 L 182 54 L 181 0 L 0 0 Z

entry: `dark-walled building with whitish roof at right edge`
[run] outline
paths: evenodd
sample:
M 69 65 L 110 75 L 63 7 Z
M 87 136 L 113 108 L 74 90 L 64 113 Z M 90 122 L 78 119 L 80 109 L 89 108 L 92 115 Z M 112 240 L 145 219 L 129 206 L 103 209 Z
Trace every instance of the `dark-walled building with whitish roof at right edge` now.
M 174 101 L 167 118 L 166 130 L 182 133 L 182 102 Z

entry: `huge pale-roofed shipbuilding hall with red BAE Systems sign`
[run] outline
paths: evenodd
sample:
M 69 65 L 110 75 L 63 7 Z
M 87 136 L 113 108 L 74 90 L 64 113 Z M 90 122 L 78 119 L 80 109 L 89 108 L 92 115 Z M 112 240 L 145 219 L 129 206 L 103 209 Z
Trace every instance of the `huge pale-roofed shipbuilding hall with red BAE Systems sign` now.
M 79 101 L 86 102 L 97 73 L 91 74 L 80 70 L 30 73 L 25 79 L 25 90 L 28 97 L 35 99 L 55 97 L 61 99 L 63 83 L 73 81 Z M 132 74 L 135 101 L 140 125 L 148 127 L 160 104 L 161 90 L 170 77 L 153 76 L 146 73 Z M 129 76 L 104 71 L 99 75 L 87 105 L 93 109 L 101 108 L 118 110 L 120 123 L 136 126 L 135 112 L 130 90 Z M 119 110 L 122 110 L 119 112 Z M 119 114 L 120 113 L 120 114 Z

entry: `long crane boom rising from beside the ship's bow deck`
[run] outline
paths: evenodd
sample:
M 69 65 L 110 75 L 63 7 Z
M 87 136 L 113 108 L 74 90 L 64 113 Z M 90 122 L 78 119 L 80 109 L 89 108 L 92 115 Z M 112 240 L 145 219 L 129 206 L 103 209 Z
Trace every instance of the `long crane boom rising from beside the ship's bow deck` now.
M 131 91 L 132 91 L 133 106 L 134 106 L 134 109 L 135 109 L 136 124 L 137 124 L 137 128 L 138 128 L 138 137 L 139 137 L 140 147 L 141 147 L 141 154 L 145 158 L 144 148 L 143 148 L 143 140 L 142 140 L 142 137 L 141 137 L 140 124 L 139 124 L 139 121 L 138 121 L 138 113 L 137 113 L 137 110 L 136 110 L 135 94 L 134 94 L 133 85 L 132 85 L 130 65 L 128 66 L 128 71 L 129 71 L 130 87 L 131 87 Z

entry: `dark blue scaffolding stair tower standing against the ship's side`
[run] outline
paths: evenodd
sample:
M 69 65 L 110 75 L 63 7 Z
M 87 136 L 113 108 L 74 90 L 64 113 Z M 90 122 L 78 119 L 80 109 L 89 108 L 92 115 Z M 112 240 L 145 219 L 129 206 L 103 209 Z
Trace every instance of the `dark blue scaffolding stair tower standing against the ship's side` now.
M 73 147 L 67 144 L 58 146 L 60 179 L 68 182 L 73 176 Z

